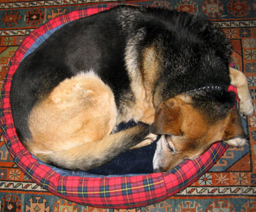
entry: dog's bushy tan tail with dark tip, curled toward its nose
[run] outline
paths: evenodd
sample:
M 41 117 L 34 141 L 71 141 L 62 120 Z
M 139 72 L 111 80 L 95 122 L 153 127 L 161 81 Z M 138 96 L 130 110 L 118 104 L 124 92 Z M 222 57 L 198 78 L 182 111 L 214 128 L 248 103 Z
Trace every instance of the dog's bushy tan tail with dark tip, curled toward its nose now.
M 139 144 L 148 136 L 148 133 L 149 125 L 136 125 L 110 134 L 97 142 L 84 143 L 68 150 L 48 154 L 45 162 L 69 170 L 90 170 L 109 162 L 121 152 Z

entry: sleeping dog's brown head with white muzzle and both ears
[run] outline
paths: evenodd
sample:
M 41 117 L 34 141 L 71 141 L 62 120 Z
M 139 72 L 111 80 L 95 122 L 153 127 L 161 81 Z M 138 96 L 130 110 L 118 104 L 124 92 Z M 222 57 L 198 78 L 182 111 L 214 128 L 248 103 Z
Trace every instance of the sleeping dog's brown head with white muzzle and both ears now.
M 192 98 L 184 95 L 159 103 L 151 133 L 162 135 L 153 161 L 156 172 L 171 170 L 184 159 L 200 156 L 214 142 L 244 139 L 236 109 L 230 108 L 218 117 L 197 108 Z

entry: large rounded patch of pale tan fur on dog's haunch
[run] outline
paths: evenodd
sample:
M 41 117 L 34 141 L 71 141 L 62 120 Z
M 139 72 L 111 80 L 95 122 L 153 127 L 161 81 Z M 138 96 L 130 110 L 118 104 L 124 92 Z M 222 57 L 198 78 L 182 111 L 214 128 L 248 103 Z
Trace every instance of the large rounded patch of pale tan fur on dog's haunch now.
M 29 149 L 42 156 L 99 141 L 113 130 L 116 116 L 113 93 L 98 76 L 90 72 L 65 79 L 31 111 Z

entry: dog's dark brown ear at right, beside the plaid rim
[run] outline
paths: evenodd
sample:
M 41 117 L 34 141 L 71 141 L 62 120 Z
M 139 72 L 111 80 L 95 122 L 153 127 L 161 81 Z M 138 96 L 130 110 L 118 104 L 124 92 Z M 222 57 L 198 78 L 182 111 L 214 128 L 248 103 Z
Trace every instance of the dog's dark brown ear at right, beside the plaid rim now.
M 231 138 L 246 138 L 237 109 L 230 111 L 230 116 L 227 122 L 223 140 L 227 141 Z

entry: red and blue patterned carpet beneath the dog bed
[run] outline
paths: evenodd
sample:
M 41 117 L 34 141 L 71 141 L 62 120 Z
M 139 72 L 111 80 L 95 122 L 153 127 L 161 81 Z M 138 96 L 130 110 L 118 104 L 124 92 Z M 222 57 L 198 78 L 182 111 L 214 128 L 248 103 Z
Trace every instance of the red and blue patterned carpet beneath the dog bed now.
M 2 0 L 0 1 L 0 86 L 8 63 L 24 37 L 42 23 L 97 0 Z M 108 1 L 184 10 L 213 20 L 233 44 L 233 61 L 247 76 L 256 102 L 256 1 L 169 0 Z M 249 146 L 229 148 L 211 170 L 174 197 L 145 208 L 129 211 L 256 211 L 256 116 L 248 122 Z M 246 127 L 245 127 L 246 128 Z M 0 141 L 0 211 L 128 211 L 91 208 L 61 199 L 24 175 Z

